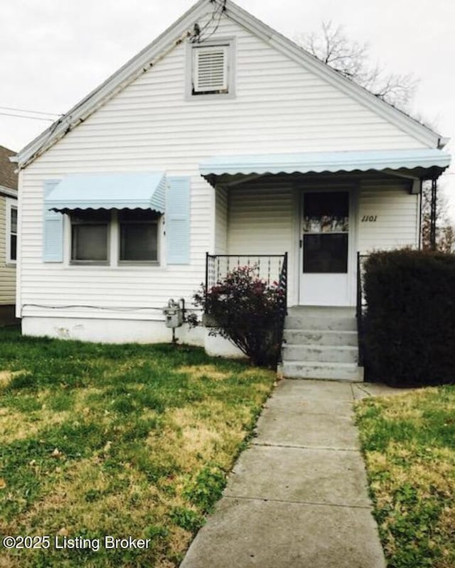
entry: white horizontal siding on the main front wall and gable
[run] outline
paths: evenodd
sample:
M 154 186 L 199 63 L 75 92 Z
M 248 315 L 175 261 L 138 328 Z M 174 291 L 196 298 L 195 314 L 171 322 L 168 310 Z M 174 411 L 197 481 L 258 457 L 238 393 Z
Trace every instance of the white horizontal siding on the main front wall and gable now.
M 235 38 L 235 98 L 187 100 L 187 46 L 182 43 L 23 172 L 24 314 L 161 318 L 161 306 L 169 298 L 191 301 L 203 281 L 205 252 L 215 252 L 215 241 L 217 252 L 224 247 L 223 227 L 217 227 L 216 236 L 213 230 L 215 190 L 200 177 L 201 159 L 218 154 L 422 147 L 228 19 L 222 18 L 216 36 Z M 70 267 L 65 262 L 42 262 L 43 182 L 68 173 L 114 171 L 191 176 L 190 264 L 166 266 L 166 254 L 159 267 Z M 240 196 L 241 190 L 230 193 Z M 245 195 L 245 211 L 239 210 L 240 197 L 238 207 L 235 202 L 230 205 L 229 252 L 252 248 L 249 252 L 282 254 L 293 242 L 291 189 L 267 188 L 269 205 L 249 199 Z M 235 207 L 238 214 L 232 218 Z M 259 225 L 267 228 L 269 240 L 259 239 L 259 232 L 253 238 L 251 232 Z M 242 226 L 250 227 L 247 237 Z M 94 307 L 49 311 L 29 304 Z M 122 311 L 115 311 L 116 306 Z

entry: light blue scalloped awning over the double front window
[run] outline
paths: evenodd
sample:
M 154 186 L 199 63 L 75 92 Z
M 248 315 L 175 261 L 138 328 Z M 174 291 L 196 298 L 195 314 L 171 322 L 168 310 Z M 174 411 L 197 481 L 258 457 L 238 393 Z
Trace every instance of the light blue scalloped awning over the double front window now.
M 152 209 L 164 213 L 163 171 L 74 173 L 65 176 L 46 196 L 48 210 Z

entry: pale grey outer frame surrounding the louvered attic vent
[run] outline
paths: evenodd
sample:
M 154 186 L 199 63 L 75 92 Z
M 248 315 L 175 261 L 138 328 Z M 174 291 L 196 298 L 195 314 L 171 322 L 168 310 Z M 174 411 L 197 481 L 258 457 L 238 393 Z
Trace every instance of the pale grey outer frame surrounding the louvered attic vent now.
M 197 72 L 197 51 L 220 47 L 222 47 L 225 52 L 226 92 L 193 92 L 194 76 Z M 201 43 L 188 41 L 186 43 L 186 100 L 203 102 L 207 99 L 234 98 L 236 53 L 235 38 L 220 38 L 206 42 L 203 41 Z

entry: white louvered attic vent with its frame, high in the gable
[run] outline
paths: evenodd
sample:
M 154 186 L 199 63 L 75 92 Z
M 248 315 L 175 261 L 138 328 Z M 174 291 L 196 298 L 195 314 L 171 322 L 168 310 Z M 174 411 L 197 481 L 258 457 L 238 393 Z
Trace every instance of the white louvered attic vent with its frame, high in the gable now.
M 191 97 L 200 95 L 234 95 L 234 42 L 233 40 L 190 44 Z

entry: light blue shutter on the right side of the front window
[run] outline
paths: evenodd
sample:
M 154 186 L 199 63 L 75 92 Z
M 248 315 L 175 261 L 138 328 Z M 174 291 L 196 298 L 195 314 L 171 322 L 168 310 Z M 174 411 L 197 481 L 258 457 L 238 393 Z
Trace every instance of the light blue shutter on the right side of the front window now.
M 167 178 L 166 249 L 168 264 L 190 264 L 191 178 Z

